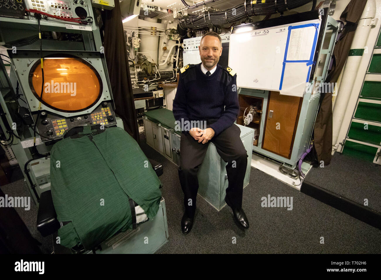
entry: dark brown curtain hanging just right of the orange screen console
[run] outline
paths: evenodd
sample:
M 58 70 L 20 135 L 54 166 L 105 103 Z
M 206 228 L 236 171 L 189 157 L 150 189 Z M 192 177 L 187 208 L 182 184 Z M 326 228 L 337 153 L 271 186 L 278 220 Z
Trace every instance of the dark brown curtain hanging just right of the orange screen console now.
M 103 23 L 104 54 L 115 102 L 115 113 L 122 118 L 125 131 L 140 144 L 119 1 L 115 1 L 114 9 L 105 10 Z

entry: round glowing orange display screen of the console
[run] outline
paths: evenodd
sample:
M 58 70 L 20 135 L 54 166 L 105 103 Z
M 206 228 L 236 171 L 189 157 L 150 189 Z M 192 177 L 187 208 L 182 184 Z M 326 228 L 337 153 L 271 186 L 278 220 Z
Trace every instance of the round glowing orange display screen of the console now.
M 29 74 L 29 84 L 36 98 L 48 107 L 63 112 L 88 109 L 101 97 L 102 82 L 88 62 L 73 57 L 45 57 L 44 89 L 41 96 L 41 62 Z

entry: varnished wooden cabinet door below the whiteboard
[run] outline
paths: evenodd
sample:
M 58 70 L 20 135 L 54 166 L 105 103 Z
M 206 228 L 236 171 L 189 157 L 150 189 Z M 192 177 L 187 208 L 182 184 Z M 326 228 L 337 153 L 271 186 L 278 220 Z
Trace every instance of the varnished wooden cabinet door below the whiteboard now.
M 262 149 L 290 158 L 303 98 L 269 93 Z

